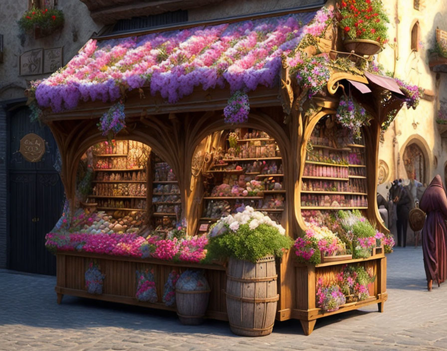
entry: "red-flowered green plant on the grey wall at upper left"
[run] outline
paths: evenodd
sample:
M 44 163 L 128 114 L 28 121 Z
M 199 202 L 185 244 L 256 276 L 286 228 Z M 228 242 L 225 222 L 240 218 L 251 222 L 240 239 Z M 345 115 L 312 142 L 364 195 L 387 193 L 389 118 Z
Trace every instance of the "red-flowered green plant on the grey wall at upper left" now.
M 64 14 L 57 8 L 32 7 L 18 20 L 18 26 L 23 32 L 32 32 L 34 38 L 50 35 L 64 24 Z

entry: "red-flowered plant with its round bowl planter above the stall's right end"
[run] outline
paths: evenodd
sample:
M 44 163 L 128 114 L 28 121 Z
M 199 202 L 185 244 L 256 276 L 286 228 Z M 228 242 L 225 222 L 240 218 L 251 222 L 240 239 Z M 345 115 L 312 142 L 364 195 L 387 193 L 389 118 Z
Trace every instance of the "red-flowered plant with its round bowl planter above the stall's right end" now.
M 359 55 L 374 55 L 388 41 L 388 16 L 381 0 L 339 0 L 339 27 L 345 48 Z

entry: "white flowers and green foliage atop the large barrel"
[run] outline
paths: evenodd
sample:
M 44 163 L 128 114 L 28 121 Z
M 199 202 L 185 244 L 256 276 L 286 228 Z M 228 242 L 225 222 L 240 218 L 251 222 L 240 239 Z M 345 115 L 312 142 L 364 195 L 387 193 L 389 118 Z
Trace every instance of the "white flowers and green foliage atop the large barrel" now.
M 267 255 L 281 257 L 292 240 L 284 228 L 268 216 L 246 206 L 243 212 L 219 220 L 209 233 L 207 260 L 222 260 L 233 256 L 256 262 Z

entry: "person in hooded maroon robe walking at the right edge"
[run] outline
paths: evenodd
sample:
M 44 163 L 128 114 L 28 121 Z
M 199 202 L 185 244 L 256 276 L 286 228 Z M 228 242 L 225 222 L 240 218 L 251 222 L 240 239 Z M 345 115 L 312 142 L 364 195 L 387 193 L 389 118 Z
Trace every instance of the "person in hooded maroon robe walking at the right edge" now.
M 424 267 L 427 275 L 427 287 L 432 290 L 433 280 L 440 283 L 446 280 L 447 274 L 447 196 L 441 176 L 433 178 L 422 195 L 419 207 L 427 213 L 422 229 L 422 249 Z

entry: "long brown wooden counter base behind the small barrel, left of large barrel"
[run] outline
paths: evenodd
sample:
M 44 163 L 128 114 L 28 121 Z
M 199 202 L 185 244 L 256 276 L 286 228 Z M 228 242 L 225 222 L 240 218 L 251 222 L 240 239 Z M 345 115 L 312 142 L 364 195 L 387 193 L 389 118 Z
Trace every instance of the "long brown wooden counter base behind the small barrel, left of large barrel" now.
M 89 294 L 85 288 L 85 271 L 92 259 L 105 274 L 101 295 Z M 225 268 L 219 265 L 198 263 L 175 263 L 153 258 L 109 256 L 88 252 L 58 252 L 56 254 L 57 283 L 55 291 L 57 303 L 61 303 L 63 295 L 79 296 L 89 299 L 119 302 L 128 305 L 176 311 L 176 307 L 168 307 L 163 301 L 163 288 L 172 270 L 183 272 L 188 268 L 204 269 L 205 276 L 211 286 L 210 300 L 206 317 L 227 321 L 224 289 L 226 285 Z M 153 269 L 158 301 L 156 303 L 141 302 L 135 297 L 137 280 L 135 271 Z

